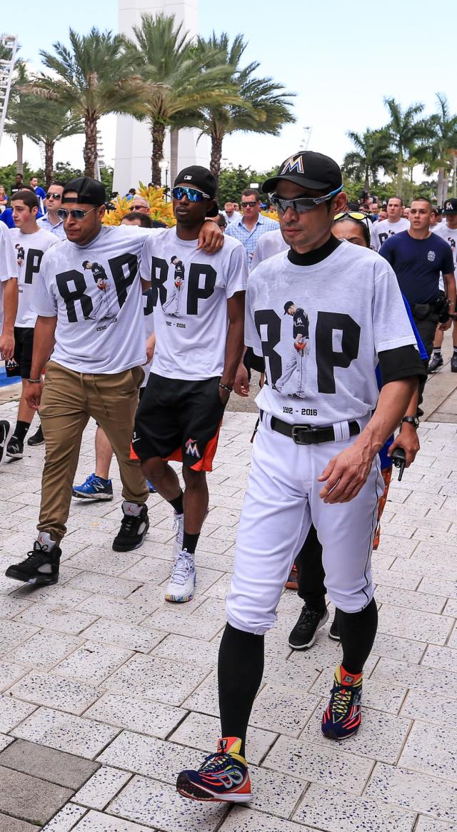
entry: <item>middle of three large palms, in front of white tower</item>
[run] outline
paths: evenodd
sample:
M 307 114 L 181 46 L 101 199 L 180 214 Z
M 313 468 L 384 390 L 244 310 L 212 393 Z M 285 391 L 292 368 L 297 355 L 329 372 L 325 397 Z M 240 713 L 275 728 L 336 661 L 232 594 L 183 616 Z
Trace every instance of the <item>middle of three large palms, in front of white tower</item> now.
M 220 57 L 202 55 L 175 17 L 142 15 L 142 25 L 133 27 L 131 43 L 137 59 L 143 59 L 142 75 L 152 87 L 146 100 L 152 136 L 152 182 L 161 184 L 160 162 L 166 128 L 192 126 L 196 111 L 215 102 L 238 102 L 231 72 Z

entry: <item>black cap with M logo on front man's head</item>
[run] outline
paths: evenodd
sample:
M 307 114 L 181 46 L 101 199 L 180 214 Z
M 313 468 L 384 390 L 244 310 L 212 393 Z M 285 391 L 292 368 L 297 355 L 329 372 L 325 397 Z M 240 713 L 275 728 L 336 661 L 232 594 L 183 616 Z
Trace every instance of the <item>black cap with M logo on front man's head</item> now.
M 314 151 L 298 151 L 283 161 L 276 176 L 262 184 L 262 191 L 271 194 L 281 179 L 313 191 L 337 191 L 343 186 L 340 166 L 330 156 Z

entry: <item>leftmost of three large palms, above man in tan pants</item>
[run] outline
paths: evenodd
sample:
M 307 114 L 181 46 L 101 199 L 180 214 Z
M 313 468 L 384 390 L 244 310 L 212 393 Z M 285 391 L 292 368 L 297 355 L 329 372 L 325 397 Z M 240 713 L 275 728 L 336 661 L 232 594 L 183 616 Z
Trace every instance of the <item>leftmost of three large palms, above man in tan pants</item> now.
M 110 112 L 144 114 L 142 101 L 147 90 L 122 35 L 112 36 L 92 27 L 88 35 L 70 29 L 69 37 L 70 48 L 57 42 L 52 44 L 54 54 L 40 52 L 52 77 L 41 75 L 33 90 L 82 118 L 85 174 L 94 176 L 97 122 Z

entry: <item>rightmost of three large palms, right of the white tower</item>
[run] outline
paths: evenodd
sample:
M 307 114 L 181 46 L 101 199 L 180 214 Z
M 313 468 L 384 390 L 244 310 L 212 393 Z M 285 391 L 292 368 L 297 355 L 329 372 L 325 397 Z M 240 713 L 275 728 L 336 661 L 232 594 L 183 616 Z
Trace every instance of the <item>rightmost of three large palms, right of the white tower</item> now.
M 278 136 L 282 126 L 296 121 L 289 100 L 294 93 L 284 92 L 284 87 L 272 78 L 255 77 L 259 62 L 240 67 L 246 46 L 242 35 L 236 35 L 230 45 L 226 32 L 220 36 L 213 32 L 207 41 L 203 38 L 198 41 L 197 48 L 202 57 L 211 57 L 216 53 L 224 62 L 240 97 L 240 101 L 234 104 L 214 102 L 204 106 L 196 119 L 201 132 L 211 136 L 210 168 L 216 179 L 221 171 L 224 136 L 236 131 Z

